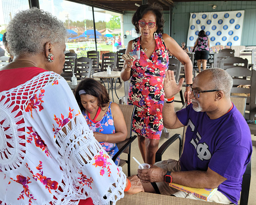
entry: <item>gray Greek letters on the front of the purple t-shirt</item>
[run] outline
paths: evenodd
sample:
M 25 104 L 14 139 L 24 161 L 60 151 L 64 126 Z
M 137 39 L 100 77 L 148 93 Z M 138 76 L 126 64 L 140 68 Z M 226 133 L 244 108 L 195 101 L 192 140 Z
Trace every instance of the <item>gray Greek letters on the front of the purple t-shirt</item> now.
M 192 123 L 192 121 L 189 119 L 188 120 L 188 127 L 191 128 L 192 132 L 195 130 L 195 125 Z M 191 139 L 190 143 L 195 147 L 196 152 L 197 152 L 197 157 L 199 159 L 203 160 L 209 160 L 211 159 L 211 152 L 208 150 L 208 145 L 204 143 L 199 143 L 201 139 L 200 134 L 197 132 L 196 133 L 196 138 Z

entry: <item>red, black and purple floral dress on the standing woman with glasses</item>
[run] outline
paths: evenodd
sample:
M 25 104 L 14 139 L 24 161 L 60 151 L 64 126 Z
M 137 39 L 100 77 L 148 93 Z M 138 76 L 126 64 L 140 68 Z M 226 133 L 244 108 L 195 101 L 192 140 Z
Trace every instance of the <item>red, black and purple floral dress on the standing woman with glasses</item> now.
M 163 129 L 163 79 L 168 70 L 169 55 L 162 34 L 155 39 L 155 51 L 150 58 L 140 47 L 140 39 L 133 40 L 131 50 L 140 50 L 139 61 L 133 62 L 128 96 L 128 104 L 136 105 L 132 128 L 143 137 L 160 139 Z

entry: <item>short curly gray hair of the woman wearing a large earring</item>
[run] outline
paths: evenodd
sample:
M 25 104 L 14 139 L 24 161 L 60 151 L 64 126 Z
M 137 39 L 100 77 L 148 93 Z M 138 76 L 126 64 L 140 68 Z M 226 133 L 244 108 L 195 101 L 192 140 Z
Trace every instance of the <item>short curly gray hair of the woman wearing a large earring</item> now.
M 38 8 L 20 11 L 7 27 L 6 39 L 12 55 L 37 54 L 45 43 L 65 43 L 63 23 L 49 12 Z

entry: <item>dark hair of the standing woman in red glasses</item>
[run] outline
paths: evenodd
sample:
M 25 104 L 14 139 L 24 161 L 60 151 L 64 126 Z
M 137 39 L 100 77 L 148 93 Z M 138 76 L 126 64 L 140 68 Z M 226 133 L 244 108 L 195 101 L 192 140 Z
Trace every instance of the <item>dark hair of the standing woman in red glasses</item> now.
M 152 12 L 155 15 L 156 19 L 156 26 L 157 26 L 157 33 L 163 33 L 163 13 L 162 13 L 162 7 L 157 4 L 153 3 L 152 5 L 150 4 L 144 4 L 141 5 L 137 11 L 133 14 L 132 16 L 132 24 L 135 26 L 136 33 L 139 34 L 139 20 L 142 19 L 143 15 Z

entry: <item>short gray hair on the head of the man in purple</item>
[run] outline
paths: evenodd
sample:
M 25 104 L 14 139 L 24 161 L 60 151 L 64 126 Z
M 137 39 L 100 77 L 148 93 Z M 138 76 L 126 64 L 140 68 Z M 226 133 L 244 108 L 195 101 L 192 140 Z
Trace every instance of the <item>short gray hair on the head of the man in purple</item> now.
M 227 71 L 221 68 L 210 68 L 201 73 L 211 73 L 211 81 L 208 82 L 209 88 L 213 90 L 222 90 L 226 97 L 230 97 L 233 79 Z

